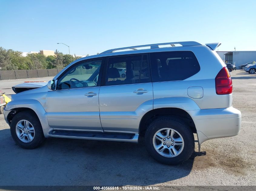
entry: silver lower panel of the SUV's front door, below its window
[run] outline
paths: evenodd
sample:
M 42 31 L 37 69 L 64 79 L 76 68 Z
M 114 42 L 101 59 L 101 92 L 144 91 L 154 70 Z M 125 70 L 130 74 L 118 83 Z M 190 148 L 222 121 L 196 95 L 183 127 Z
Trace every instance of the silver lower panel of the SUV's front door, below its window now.
M 99 113 L 99 87 L 48 91 L 46 96 L 49 126 L 55 129 L 102 131 Z M 94 92 L 95 96 L 85 96 Z

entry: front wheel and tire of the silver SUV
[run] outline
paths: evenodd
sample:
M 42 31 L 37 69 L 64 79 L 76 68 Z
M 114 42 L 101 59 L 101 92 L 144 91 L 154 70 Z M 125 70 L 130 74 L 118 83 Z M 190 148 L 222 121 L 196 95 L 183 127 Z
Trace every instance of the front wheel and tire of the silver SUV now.
M 30 124 L 25 125 L 25 121 L 29 122 Z M 19 126 L 24 126 L 24 127 L 19 127 L 19 128 L 17 127 L 16 129 L 16 126 L 18 124 Z M 21 130 L 20 128 L 23 128 L 23 129 L 25 128 L 25 130 Z M 34 133 L 32 129 L 34 129 Z M 29 132 L 28 135 L 26 135 L 25 132 Z M 22 138 L 23 141 L 20 138 L 18 138 L 19 133 L 20 133 L 20 136 L 23 137 Z M 37 148 L 39 145 L 42 144 L 42 142 L 45 139 L 41 123 L 38 117 L 32 111 L 22 111 L 20 113 L 17 113 L 13 117 L 11 122 L 11 135 L 17 145 L 26 149 Z M 29 141 L 28 138 L 31 141 Z

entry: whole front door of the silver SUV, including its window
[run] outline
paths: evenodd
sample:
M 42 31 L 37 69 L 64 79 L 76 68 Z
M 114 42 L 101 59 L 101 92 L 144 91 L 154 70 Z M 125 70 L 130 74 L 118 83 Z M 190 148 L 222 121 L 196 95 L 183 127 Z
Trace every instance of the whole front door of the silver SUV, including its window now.
M 78 62 L 48 91 L 46 112 L 54 129 L 102 131 L 99 116 L 98 75 L 102 59 Z

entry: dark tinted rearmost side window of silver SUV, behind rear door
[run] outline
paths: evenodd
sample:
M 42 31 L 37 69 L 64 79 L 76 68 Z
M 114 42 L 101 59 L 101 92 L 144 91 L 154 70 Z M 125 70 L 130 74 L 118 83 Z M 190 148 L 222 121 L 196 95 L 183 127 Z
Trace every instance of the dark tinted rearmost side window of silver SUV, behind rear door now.
M 153 82 L 184 80 L 200 70 L 191 51 L 150 53 L 150 60 Z

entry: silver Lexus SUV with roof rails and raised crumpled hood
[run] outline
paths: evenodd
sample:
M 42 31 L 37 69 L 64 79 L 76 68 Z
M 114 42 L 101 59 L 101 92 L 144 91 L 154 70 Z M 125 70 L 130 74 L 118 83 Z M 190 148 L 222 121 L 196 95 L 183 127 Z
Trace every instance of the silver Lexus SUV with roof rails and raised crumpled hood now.
M 240 131 L 219 45 L 160 43 L 78 59 L 48 85 L 13 95 L 5 120 L 22 148 L 47 137 L 137 143 L 143 136 L 156 161 L 180 164 L 194 151 L 193 133 L 200 150 L 206 140 Z

